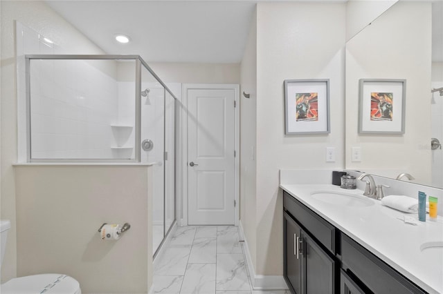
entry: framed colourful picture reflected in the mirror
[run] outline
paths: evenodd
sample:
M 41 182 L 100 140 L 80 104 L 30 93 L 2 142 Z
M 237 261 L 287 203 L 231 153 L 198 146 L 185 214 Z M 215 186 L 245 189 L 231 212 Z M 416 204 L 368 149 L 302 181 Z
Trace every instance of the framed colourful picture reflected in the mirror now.
M 406 79 L 360 79 L 359 133 L 404 134 Z

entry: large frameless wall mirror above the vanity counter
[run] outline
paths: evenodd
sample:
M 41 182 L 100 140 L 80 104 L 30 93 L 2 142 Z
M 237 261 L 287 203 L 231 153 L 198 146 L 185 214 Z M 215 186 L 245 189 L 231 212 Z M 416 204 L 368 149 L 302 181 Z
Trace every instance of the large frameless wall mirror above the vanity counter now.
M 346 168 L 394 179 L 409 173 L 417 184 L 443 188 L 443 150 L 431 145 L 431 138 L 443 143 L 443 91 L 431 92 L 443 87 L 443 1 L 397 1 L 369 26 L 354 31 L 345 59 Z M 363 88 L 362 96 L 361 79 L 376 81 L 374 88 Z M 401 102 L 401 94 L 383 84 L 392 79 L 406 80 L 404 112 L 392 107 Z M 373 111 L 361 115 L 370 124 L 377 121 L 377 108 L 390 109 L 383 119 L 404 119 L 404 133 L 384 128 L 359 133 L 360 108 L 363 114 Z

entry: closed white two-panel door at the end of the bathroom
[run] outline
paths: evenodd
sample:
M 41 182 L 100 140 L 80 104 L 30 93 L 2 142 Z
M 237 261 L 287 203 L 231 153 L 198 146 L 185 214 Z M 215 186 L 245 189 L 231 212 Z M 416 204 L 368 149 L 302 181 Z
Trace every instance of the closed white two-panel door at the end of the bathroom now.
M 233 89 L 188 89 L 188 224 L 235 223 Z

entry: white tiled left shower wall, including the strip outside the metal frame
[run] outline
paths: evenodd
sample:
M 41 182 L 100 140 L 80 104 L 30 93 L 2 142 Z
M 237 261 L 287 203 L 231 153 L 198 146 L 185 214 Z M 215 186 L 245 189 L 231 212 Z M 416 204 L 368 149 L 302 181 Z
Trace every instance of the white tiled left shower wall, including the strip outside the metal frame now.
M 17 22 L 16 27 L 19 162 L 24 162 L 27 160 L 24 55 L 58 54 L 64 50 L 47 43 L 44 36 L 21 23 Z M 113 63 L 31 61 L 33 158 L 112 158 L 111 146 L 115 142 L 110 125 L 118 115 L 116 65 Z

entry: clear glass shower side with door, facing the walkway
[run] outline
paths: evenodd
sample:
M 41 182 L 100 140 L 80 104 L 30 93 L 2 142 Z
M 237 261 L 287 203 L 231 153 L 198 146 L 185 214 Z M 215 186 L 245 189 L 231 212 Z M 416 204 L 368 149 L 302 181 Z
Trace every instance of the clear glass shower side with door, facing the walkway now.
M 143 75 L 141 83 L 141 161 L 152 164 L 152 249 L 159 250 L 175 221 L 175 99 Z M 143 145 L 143 143 L 142 143 Z

